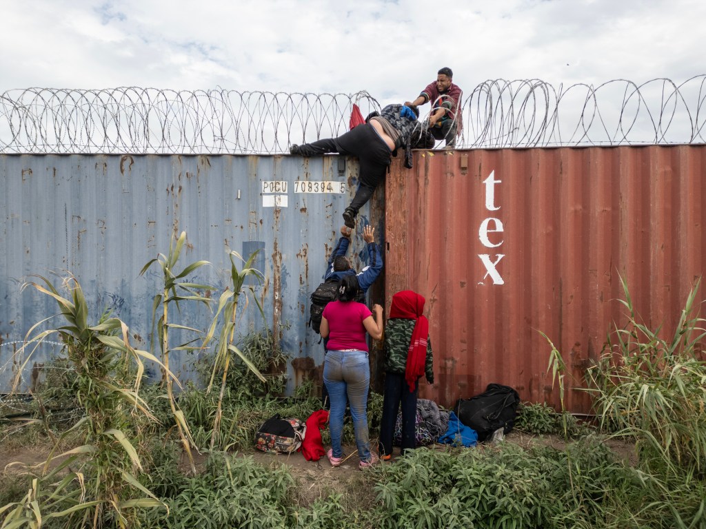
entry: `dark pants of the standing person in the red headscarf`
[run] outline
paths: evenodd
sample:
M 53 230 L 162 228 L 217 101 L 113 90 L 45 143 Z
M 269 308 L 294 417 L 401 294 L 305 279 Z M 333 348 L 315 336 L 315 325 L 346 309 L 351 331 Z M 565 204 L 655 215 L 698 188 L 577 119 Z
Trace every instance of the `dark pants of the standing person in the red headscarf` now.
M 397 410 L 402 404 L 402 454 L 405 450 L 417 447 L 414 437 L 414 422 L 417 418 L 417 391 L 419 384 L 414 386 L 414 391 L 409 391 L 405 375 L 385 373 L 385 392 L 383 394 L 383 418 L 380 422 L 381 456 L 393 453 L 393 434 Z

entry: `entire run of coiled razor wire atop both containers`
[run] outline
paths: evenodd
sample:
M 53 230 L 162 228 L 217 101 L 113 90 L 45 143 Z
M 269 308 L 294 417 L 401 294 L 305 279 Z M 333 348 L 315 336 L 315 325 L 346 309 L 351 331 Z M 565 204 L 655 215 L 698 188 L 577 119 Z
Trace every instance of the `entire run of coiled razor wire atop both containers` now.
M 9 90 L 0 95 L 0 153 L 279 154 L 344 133 L 354 103 L 364 116 L 381 109 L 368 92 Z M 461 108 L 458 148 L 706 142 L 706 74 L 680 85 L 487 80 Z

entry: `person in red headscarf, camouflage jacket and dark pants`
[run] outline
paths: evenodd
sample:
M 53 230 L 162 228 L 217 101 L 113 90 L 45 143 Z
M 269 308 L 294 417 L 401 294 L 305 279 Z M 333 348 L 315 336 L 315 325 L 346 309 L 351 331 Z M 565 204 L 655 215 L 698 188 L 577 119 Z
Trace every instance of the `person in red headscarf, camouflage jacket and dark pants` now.
M 402 454 L 414 449 L 414 419 L 417 416 L 419 379 L 434 382 L 429 321 L 424 316 L 424 296 L 411 290 L 397 292 L 385 324 L 385 391 L 380 425 L 380 455 L 388 460 L 393 452 L 397 410 L 402 405 Z

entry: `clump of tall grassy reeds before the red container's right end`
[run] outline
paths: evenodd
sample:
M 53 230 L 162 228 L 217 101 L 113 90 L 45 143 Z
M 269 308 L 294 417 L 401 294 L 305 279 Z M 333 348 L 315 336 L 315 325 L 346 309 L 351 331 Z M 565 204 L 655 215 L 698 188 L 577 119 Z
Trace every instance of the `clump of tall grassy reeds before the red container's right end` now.
M 695 305 L 696 281 L 674 334 L 650 329 L 635 312 L 621 277 L 628 323 L 608 335 L 589 370 L 602 427 L 635 437 L 641 462 L 678 475 L 706 475 L 706 320 Z M 686 474 L 685 474 L 686 473 Z

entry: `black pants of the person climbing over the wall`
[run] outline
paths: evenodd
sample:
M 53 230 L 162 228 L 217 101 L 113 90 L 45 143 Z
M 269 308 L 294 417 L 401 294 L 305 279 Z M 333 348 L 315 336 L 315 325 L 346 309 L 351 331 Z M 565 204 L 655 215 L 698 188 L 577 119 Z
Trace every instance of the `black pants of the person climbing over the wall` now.
M 358 158 L 360 186 L 348 206 L 353 210 L 354 216 L 373 196 L 375 188 L 385 179 L 390 165 L 390 147 L 368 123 L 359 125 L 338 138 L 327 138 L 299 145 L 298 152 L 302 156 L 318 156 L 327 152 L 337 152 Z

